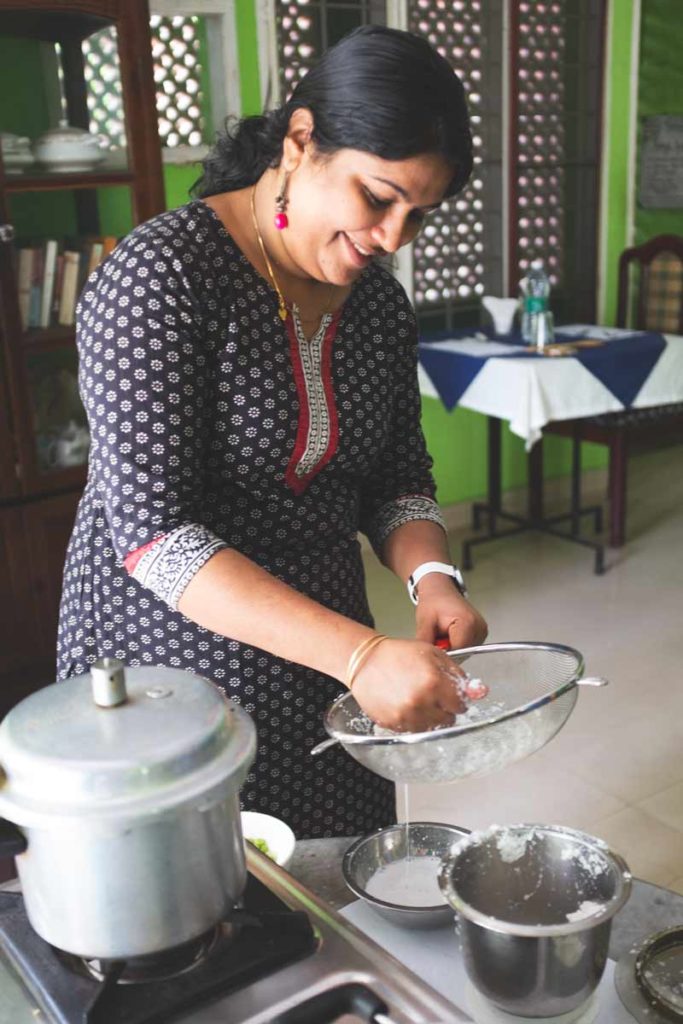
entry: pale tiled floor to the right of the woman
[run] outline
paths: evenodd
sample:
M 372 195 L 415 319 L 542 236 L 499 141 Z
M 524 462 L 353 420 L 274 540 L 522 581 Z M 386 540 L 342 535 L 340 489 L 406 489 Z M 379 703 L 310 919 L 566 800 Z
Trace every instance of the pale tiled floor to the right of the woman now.
M 605 575 L 593 574 L 589 551 L 540 535 L 475 549 L 468 573 L 489 641 L 569 644 L 610 685 L 583 690 L 564 729 L 504 773 L 411 786 L 410 816 L 571 825 L 607 841 L 634 874 L 683 893 L 683 447 L 632 459 L 629 472 L 629 541 L 609 552 Z M 462 537 L 452 534 L 456 559 Z M 410 635 L 402 585 L 366 562 L 378 628 Z

